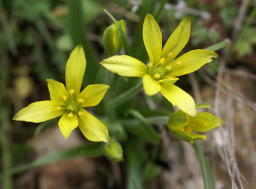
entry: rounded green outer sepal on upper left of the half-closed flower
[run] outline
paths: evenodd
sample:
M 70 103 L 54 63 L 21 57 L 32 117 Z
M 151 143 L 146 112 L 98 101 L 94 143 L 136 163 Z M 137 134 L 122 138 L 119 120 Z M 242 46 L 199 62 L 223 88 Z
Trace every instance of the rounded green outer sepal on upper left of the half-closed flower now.
M 168 125 L 174 129 L 181 129 L 189 122 L 189 116 L 182 110 L 174 112 L 168 119 Z

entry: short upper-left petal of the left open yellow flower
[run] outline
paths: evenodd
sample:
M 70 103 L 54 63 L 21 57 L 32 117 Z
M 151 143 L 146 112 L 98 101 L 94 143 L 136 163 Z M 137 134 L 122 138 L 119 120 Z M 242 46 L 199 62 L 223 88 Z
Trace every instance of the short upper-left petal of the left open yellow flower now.
M 64 84 L 54 81 L 53 79 L 47 79 L 48 82 L 48 89 L 50 92 L 50 100 L 58 105 L 65 106 L 66 103 L 63 100 L 62 96 L 68 97 L 69 94 L 67 93 Z

